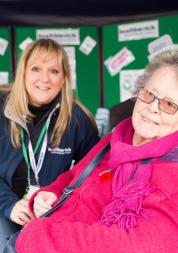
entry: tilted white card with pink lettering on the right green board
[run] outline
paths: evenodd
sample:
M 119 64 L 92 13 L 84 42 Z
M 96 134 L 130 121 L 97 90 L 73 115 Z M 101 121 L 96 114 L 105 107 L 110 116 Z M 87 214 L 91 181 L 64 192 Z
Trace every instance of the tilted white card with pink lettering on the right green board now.
M 108 63 L 107 68 L 111 74 L 111 76 L 116 75 L 119 71 L 127 66 L 129 63 L 135 60 L 134 55 L 131 51 L 129 51 L 126 47 L 120 50 L 116 55 L 114 55 L 111 59 L 107 59 L 105 64 Z

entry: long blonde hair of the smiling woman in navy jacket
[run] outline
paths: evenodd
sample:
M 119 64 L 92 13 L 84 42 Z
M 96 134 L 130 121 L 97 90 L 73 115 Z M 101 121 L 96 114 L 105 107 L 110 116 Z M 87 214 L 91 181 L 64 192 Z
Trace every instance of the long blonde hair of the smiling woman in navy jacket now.
M 72 116 L 73 102 L 76 101 L 74 101 L 71 87 L 71 73 L 68 56 L 60 44 L 51 39 L 39 39 L 27 46 L 20 57 L 16 70 L 16 77 L 7 101 L 13 106 L 13 110 L 18 117 L 25 117 L 27 121 L 31 121 L 33 119 L 34 115 L 28 109 L 29 99 L 25 88 L 25 70 L 29 59 L 36 55 L 39 50 L 44 50 L 45 59 L 51 54 L 57 54 L 64 73 L 64 85 L 62 86 L 59 95 L 60 113 L 54 126 L 50 143 L 52 147 L 55 147 L 60 143 L 62 135 L 68 126 Z M 79 105 L 93 122 L 94 119 L 90 112 L 83 105 L 81 106 L 80 102 Z M 11 139 L 14 146 L 21 147 L 20 126 L 13 121 L 11 121 Z

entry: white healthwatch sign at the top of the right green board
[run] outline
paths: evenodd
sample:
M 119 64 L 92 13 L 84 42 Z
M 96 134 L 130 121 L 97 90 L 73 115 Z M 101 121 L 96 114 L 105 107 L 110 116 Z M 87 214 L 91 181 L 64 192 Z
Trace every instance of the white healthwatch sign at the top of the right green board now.
M 118 41 L 157 38 L 158 20 L 136 22 L 118 26 Z

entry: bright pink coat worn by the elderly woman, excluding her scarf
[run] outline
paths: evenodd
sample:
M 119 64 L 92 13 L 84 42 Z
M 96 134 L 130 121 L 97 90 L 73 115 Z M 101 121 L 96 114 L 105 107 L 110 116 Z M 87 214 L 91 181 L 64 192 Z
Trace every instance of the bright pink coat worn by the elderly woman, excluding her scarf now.
M 73 170 L 59 176 L 45 190 L 59 195 L 109 138 L 101 140 Z M 178 163 L 153 162 L 151 185 L 159 191 L 143 202 L 152 218 L 140 219 L 136 228 L 125 232 L 117 225 L 106 227 L 100 222 L 102 209 L 112 197 L 111 181 L 103 183 L 99 176 L 108 169 L 108 159 L 109 153 L 92 176 L 51 217 L 35 219 L 25 227 L 17 239 L 18 253 L 178 252 Z

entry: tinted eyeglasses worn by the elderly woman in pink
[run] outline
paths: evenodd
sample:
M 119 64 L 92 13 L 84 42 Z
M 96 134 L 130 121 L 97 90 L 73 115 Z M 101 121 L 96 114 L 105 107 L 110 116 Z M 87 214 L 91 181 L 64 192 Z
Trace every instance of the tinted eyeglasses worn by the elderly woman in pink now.
M 145 89 L 140 89 L 138 92 L 137 98 L 143 101 L 146 104 L 151 104 L 155 99 L 158 100 L 158 108 L 167 113 L 167 114 L 175 114 L 178 110 L 178 105 L 175 103 L 167 100 L 167 99 L 161 99 L 157 98 L 152 92 L 145 90 Z

